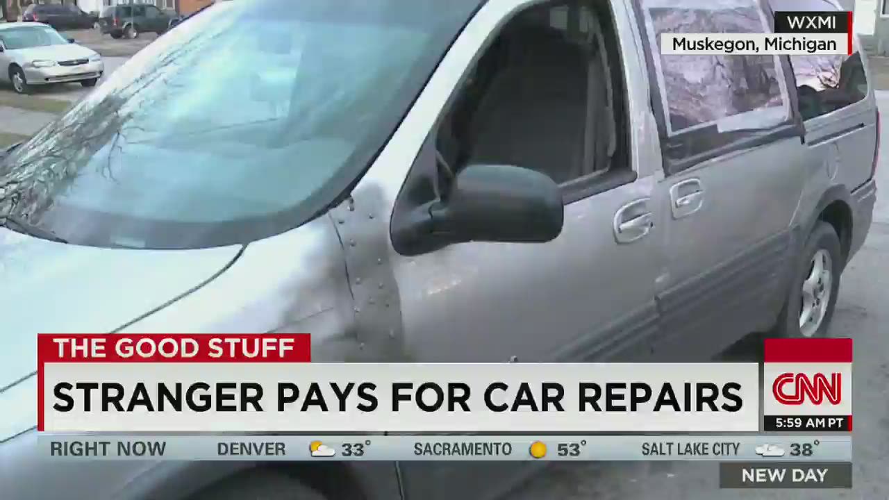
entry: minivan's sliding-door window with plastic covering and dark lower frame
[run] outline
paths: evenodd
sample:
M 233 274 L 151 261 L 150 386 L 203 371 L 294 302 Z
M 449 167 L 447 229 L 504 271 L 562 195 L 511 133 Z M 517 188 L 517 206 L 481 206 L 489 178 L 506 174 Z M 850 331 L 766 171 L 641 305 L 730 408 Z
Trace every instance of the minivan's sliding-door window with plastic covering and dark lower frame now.
M 637 0 L 636 7 L 661 103 L 668 173 L 792 123 L 777 56 L 661 54 L 663 33 L 771 31 L 757 0 Z

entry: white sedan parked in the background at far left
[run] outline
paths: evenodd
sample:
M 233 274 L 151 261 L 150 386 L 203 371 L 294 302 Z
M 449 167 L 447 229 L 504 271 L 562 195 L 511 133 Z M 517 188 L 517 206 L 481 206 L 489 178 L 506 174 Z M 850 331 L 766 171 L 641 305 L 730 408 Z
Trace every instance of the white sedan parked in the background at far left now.
M 105 71 L 101 56 L 55 28 L 37 22 L 0 24 L 0 81 L 16 93 L 35 85 L 80 82 L 95 86 Z

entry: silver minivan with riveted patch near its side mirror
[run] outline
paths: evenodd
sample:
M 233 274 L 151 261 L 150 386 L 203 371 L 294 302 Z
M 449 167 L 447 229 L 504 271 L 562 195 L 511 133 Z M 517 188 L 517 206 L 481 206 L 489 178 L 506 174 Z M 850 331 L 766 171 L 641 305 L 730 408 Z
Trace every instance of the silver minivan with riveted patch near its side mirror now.
M 47 463 L 35 335 L 317 361 L 709 359 L 827 335 L 869 230 L 852 56 L 661 56 L 825 0 L 239 0 L 0 160 L 4 498 L 485 498 L 519 463 Z

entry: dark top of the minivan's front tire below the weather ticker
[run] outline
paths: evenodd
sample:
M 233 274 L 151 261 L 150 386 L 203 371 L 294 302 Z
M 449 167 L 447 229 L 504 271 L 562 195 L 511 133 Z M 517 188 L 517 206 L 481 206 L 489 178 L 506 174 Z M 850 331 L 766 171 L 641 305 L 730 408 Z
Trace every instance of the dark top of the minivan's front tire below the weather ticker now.
M 252 469 L 204 488 L 188 500 L 327 500 L 299 480 L 277 472 Z

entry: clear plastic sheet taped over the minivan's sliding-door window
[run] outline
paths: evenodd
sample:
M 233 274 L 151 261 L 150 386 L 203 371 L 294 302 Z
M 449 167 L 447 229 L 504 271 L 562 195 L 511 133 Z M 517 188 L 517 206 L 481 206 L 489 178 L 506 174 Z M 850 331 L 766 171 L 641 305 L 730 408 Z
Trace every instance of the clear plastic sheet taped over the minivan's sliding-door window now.
M 763 33 L 769 20 L 755 0 L 643 0 L 669 135 L 717 126 L 719 132 L 779 125 L 789 117 L 786 82 L 773 55 L 664 55 L 664 33 Z

